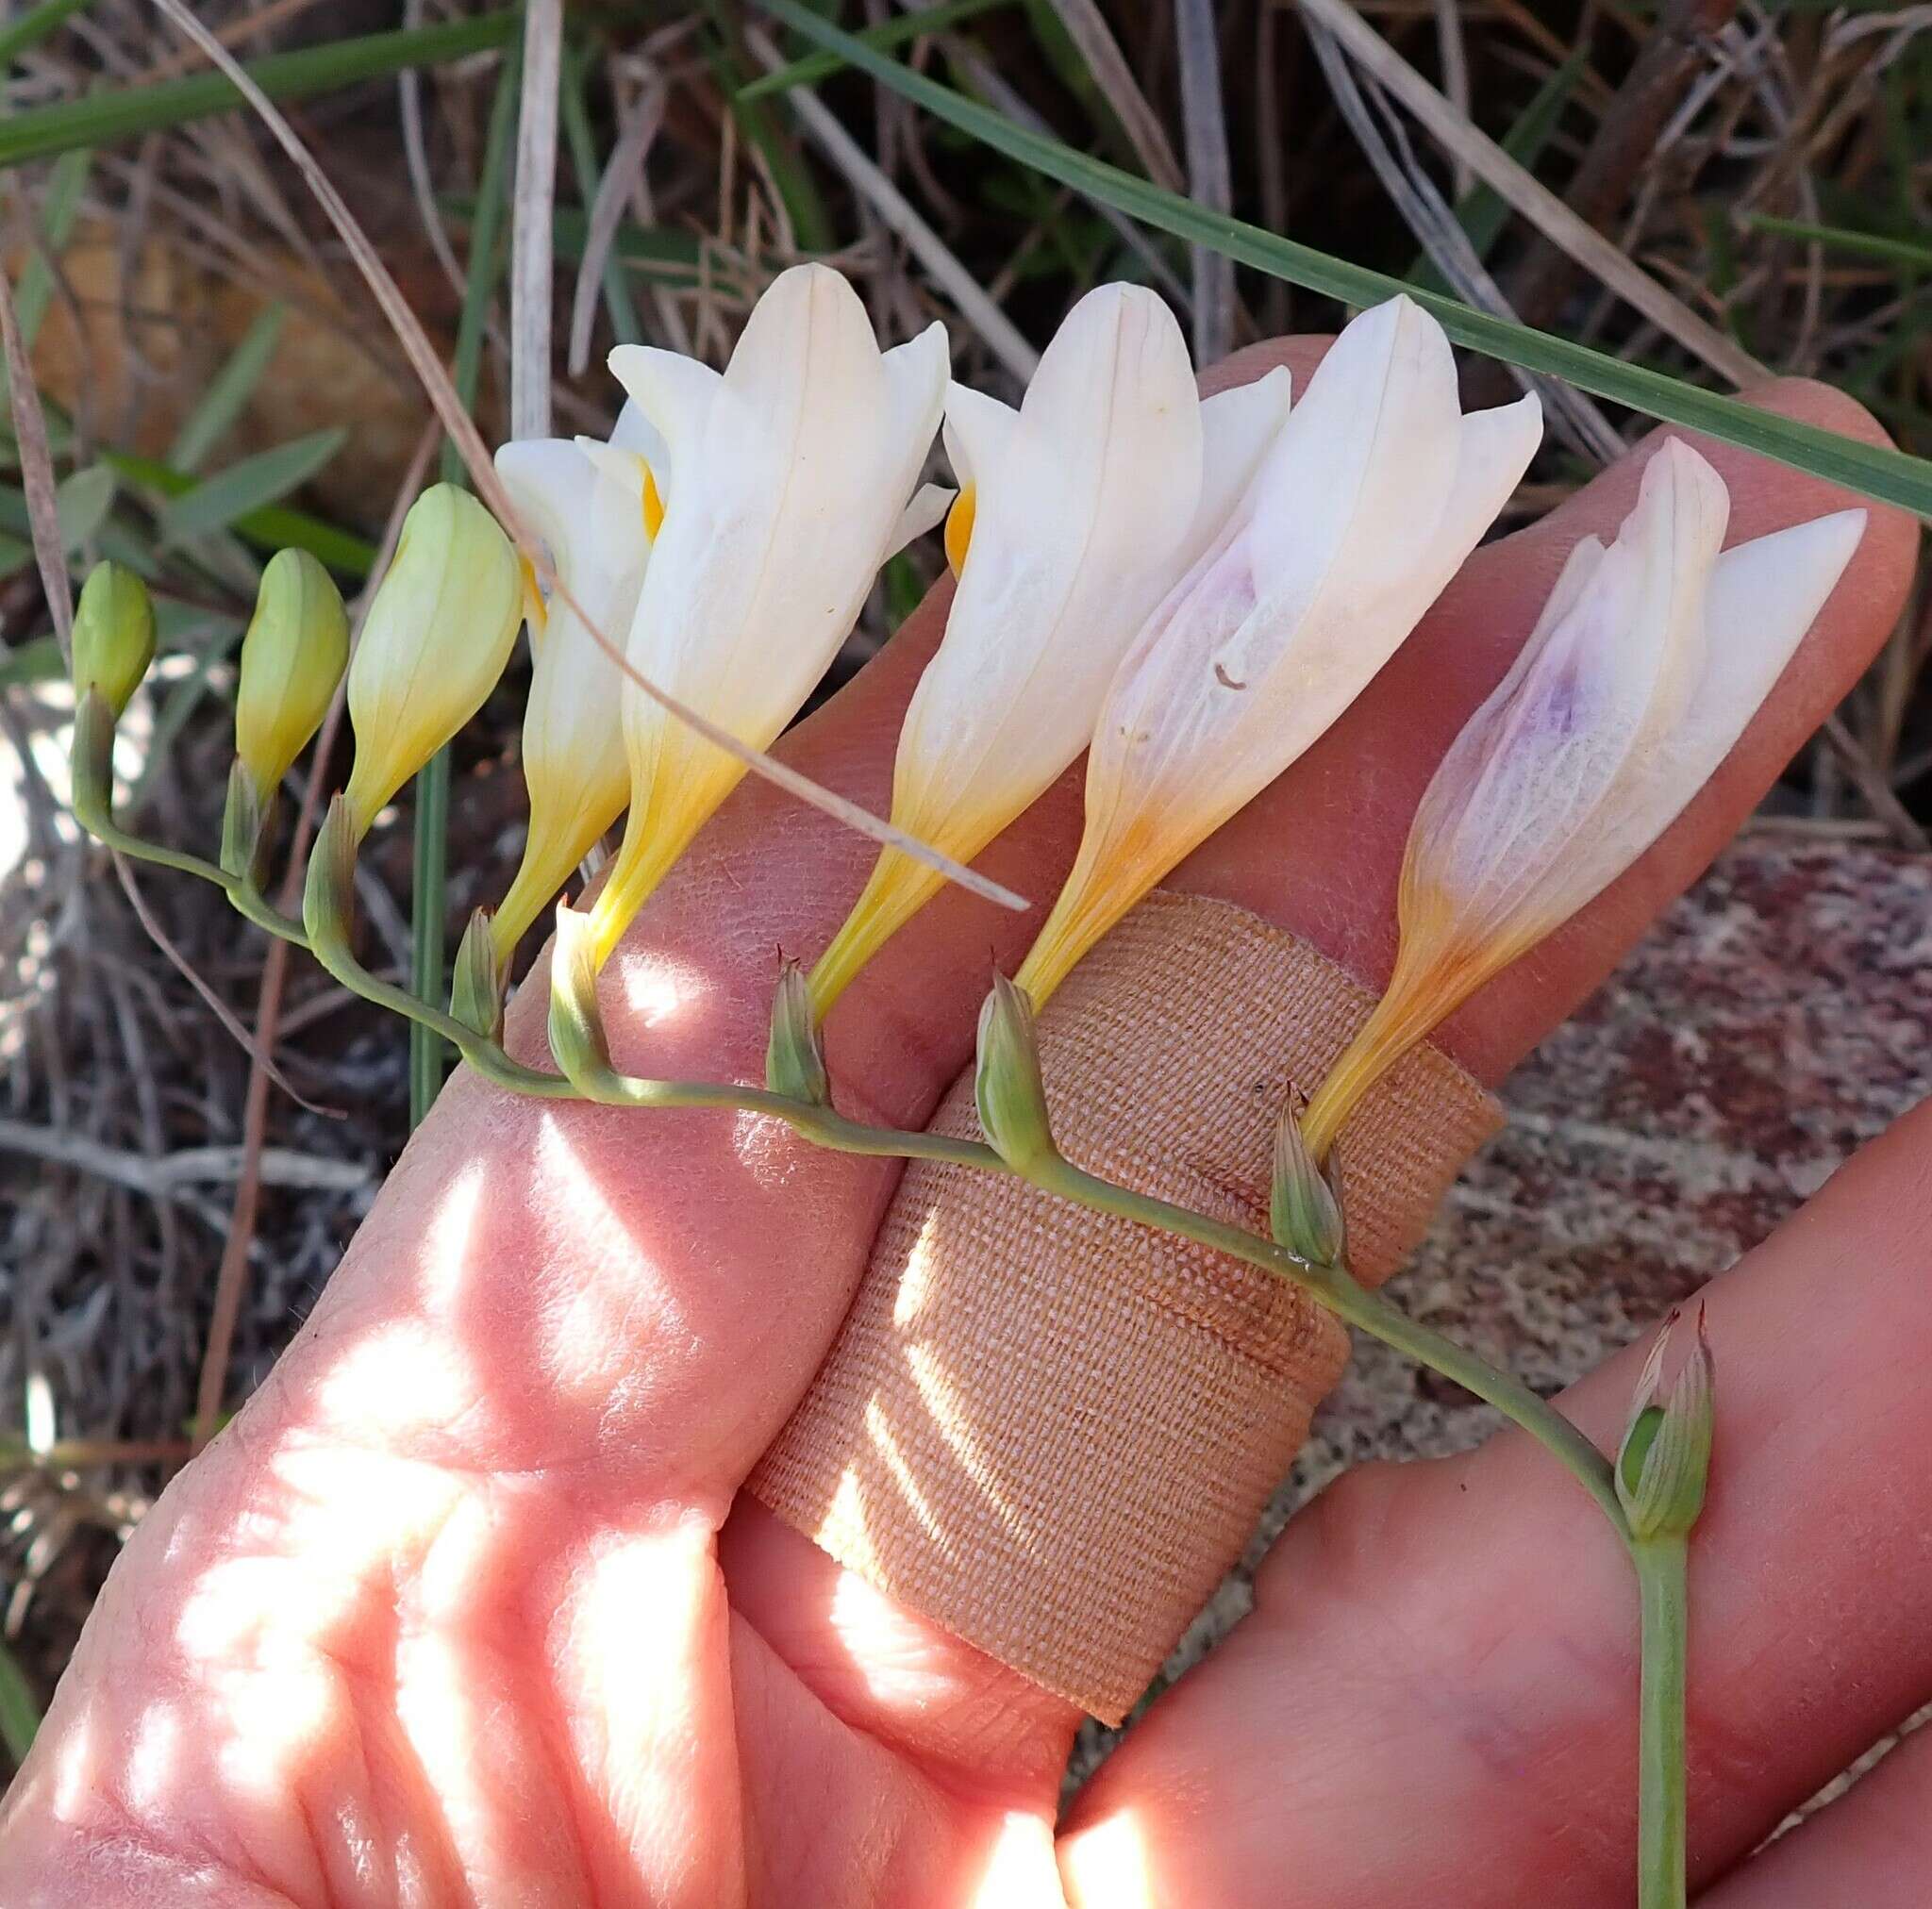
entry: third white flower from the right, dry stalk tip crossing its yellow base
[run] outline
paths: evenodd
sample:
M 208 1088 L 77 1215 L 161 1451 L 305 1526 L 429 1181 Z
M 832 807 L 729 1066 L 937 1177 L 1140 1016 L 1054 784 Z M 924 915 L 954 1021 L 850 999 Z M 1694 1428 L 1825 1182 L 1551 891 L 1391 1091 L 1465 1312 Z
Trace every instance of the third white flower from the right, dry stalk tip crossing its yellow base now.
M 1090 292 L 1014 412 L 954 385 L 958 591 L 898 734 L 893 821 L 970 862 L 1088 746 L 1148 613 L 1248 487 L 1289 375 L 1206 404 L 1180 327 L 1138 286 Z M 939 889 L 887 848 L 811 972 L 819 1014 Z

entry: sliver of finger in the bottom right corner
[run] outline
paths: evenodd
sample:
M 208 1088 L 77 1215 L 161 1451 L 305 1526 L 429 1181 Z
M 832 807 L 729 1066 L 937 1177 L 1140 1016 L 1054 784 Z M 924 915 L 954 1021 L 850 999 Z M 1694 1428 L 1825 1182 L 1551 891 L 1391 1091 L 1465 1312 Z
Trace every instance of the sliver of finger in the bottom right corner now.
M 1932 1731 L 1698 1897 L 1702 1909 L 1920 1909 L 1932 1876 Z

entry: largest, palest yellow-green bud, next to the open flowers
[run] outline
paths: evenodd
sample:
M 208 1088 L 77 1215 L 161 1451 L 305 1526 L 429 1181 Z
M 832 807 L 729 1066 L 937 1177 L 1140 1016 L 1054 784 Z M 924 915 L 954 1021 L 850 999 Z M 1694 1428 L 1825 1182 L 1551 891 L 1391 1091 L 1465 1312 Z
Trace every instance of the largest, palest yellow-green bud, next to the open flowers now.
M 346 796 L 357 837 L 483 707 L 522 620 L 524 572 L 497 520 L 452 483 L 427 489 L 402 522 L 350 663 Z

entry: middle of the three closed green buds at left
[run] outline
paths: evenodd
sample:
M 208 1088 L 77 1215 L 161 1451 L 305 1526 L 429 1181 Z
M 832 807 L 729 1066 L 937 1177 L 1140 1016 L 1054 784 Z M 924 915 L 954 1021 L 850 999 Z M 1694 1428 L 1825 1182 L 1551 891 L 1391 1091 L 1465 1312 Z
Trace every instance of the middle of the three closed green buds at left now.
M 342 591 L 307 551 L 276 551 L 261 574 L 236 684 L 236 755 L 265 808 L 323 727 L 348 661 Z

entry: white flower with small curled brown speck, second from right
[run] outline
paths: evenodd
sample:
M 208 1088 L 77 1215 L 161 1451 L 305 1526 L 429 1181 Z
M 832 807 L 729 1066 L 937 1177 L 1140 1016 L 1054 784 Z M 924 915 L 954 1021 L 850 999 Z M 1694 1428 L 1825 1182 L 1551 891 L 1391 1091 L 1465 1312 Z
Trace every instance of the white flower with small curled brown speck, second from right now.
M 1534 398 L 1463 415 L 1449 340 L 1406 298 L 1349 325 L 1107 690 L 1080 854 L 1018 974 L 1036 1003 L 1354 701 L 1540 433 Z

